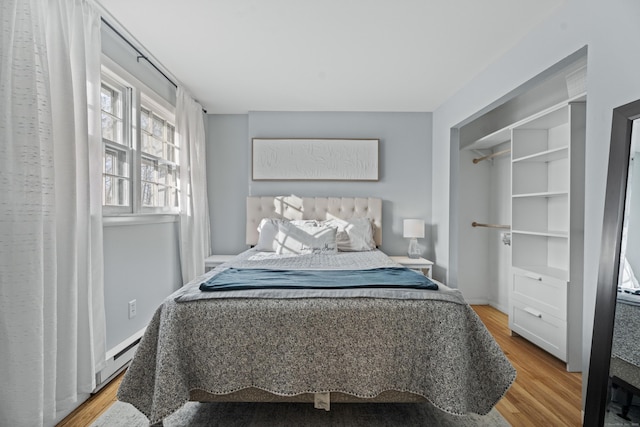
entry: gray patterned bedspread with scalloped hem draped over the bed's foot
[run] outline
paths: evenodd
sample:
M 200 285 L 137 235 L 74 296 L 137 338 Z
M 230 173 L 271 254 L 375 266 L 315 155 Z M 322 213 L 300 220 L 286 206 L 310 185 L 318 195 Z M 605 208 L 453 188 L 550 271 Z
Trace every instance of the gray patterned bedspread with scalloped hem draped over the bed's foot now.
M 179 409 L 190 390 L 248 387 L 284 396 L 397 390 L 449 413 L 488 413 L 514 368 L 459 292 L 419 292 L 433 298 L 176 301 L 189 294 L 182 289 L 154 314 L 118 399 L 151 423 Z

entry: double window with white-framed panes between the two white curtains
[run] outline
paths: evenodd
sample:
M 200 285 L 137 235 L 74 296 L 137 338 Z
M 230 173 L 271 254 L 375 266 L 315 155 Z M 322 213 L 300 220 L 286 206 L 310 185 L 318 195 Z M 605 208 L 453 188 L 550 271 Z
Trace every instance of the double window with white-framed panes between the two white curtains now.
M 124 71 L 103 67 L 103 211 L 175 213 L 180 147 L 173 107 Z

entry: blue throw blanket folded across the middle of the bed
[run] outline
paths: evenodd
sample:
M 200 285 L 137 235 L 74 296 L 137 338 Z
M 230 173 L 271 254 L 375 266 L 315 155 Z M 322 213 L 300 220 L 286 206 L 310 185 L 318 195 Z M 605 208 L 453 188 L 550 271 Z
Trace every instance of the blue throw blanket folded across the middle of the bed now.
M 412 288 L 438 290 L 438 285 L 408 268 L 371 270 L 267 270 L 229 268 L 200 284 L 201 291 L 249 289 Z

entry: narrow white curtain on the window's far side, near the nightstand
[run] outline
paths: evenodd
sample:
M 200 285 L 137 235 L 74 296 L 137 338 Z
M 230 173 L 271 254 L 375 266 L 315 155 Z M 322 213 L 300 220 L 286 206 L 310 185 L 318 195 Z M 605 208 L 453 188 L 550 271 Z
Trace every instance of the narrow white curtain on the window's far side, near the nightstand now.
M 181 86 L 176 100 L 176 130 L 180 141 L 180 265 L 187 283 L 204 273 L 210 255 L 209 203 L 202 106 Z

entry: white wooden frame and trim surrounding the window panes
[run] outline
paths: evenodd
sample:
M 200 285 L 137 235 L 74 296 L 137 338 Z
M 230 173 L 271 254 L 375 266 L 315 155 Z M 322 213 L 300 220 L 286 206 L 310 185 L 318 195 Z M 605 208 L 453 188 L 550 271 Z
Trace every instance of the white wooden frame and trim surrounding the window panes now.
M 161 115 L 167 120 L 175 129 L 175 107 L 171 105 L 164 98 L 156 94 L 147 85 L 140 80 L 132 76 L 125 71 L 122 67 L 116 64 L 113 60 L 107 56 L 102 56 L 102 80 L 109 86 L 116 86 L 119 89 L 127 88 L 127 106 L 123 119 L 123 127 L 125 138 L 129 140 L 129 205 L 128 206 L 102 206 L 102 213 L 105 217 L 118 217 L 118 216 L 141 216 L 149 214 L 171 214 L 177 215 L 180 213 L 180 207 L 150 207 L 142 205 L 142 180 L 141 180 L 141 165 L 142 165 L 142 150 L 141 150 L 141 129 L 140 129 L 140 111 L 142 105 L 151 108 L 153 112 Z M 128 112 L 128 114 L 127 114 Z M 174 135 L 174 142 L 178 140 L 177 130 Z M 103 141 L 103 152 L 105 147 L 110 147 L 108 141 Z M 119 150 L 122 148 L 117 147 Z M 182 150 L 179 150 L 181 153 Z M 149 157 L 146 154 L 144 157 Z M 174 159 L 175 170 L 179 176 L 180 174 L 180 159 Z M 104 176 L 104 175 L 103 175 Z M 176 179 L 175 188 L 178 192 L 178 201 L 180 200 L 180 181 Z M 102 191 L 104 191 L 104 183 L 102 185 Z M 179 203 L 179 202 L 178 202 Z

